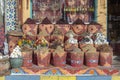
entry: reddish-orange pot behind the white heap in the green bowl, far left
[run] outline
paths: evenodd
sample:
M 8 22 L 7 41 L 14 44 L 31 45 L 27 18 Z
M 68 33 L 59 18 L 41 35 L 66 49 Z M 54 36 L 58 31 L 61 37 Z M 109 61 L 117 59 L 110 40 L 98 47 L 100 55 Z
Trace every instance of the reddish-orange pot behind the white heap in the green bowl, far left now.
M 8 36 L 8 47 L 9 47 L 9 53 L 12 53 L 13 49 L 17 45 L 19 40 L 19 37 L 16 36 Z

